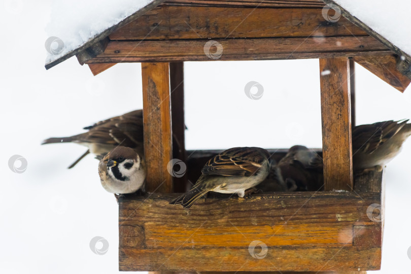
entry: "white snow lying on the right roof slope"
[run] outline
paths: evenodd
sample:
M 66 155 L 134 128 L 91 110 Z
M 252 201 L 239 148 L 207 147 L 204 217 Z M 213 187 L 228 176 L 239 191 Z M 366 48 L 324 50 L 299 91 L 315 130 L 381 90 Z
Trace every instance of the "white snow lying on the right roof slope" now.
M 334 0 L 393 45 L 411 55 L 411 1 Z

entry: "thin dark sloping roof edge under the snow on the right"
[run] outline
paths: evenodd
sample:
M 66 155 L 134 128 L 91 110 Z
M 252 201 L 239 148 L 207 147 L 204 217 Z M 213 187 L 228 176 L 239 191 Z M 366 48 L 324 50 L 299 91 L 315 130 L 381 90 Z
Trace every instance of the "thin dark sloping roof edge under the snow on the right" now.
M 381 43 L 383 43 L 387 48 L 389 48 L 390 50 L 392 50 L 394 53 L 396 53 L 398 56 L 403 56 L 402 61 L 405 61 L 408 66 L 407 71 L 401 71 L 401 73 L 409 74 L 409 69 L 410 69 L 410 65 L 411 65 L 411 56 L 408 55 L 407 53 L 405 53 L 403 50 L 401 50 L 399 47 L 395 46 L 392 42 L 390 42 L 388 39 L 386 39 L 384 36 L 382 36 L 381 34 L 375 32 L 371 27 L 369 27 L 367 24 L 365 24 L 364 22 L 362 22 L 360 19 L 358 19 L 357 17 L 355 17 L 354 15 L 352 15 L 349 11 L 347 11 L 346 9 L 344 9 L 343 7 L 341 7 L 341 5 L 339 5 L 338 3 L 336 3 L 333 0 L 321 0 L 322 2 L 324 2 L 325 4 L 329 5 L 335 5 L 337 6 L 340 10 L 341 10 L 341 14 L 342 16 L 346 17 L 350 22 L 352 22 L 353 24 L 355 24 L 356 26 L 364 29 L 364 31 L 371 37 L 375 38 L 376 40 L 380 41 Z

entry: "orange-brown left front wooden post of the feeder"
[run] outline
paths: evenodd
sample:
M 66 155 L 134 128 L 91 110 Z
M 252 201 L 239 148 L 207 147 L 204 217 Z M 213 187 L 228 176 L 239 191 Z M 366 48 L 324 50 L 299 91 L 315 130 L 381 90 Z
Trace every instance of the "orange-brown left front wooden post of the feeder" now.
M 173 179 L 167 172 L 172 159 L 168 63 L 142 64 L 142 78 L 146 191 L 169 193 L 173 191 Z

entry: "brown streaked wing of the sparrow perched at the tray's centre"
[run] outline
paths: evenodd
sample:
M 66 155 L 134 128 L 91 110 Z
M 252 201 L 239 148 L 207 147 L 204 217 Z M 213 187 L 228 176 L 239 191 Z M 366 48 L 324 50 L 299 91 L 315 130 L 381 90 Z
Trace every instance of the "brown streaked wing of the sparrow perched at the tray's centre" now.
M 251 176 L 268 161 L 267 150 L 260 147 L 234 147 L 210 159 L 202 174 L 223 176 Z

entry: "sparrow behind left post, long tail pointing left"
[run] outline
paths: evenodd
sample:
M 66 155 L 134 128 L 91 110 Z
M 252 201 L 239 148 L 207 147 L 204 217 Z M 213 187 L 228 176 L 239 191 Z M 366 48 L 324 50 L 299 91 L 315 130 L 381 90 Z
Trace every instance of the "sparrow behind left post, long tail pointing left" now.
M 68 168 L 74 167 L 89 153 L 105 155 L 118 145 L 131 147 L 144 156 L 142 109 L 99 121 L 83 129 L 88 131 L 70 137 L 49 138 L 42 144 L 73 142 L 87 146 L 87 151 Z

